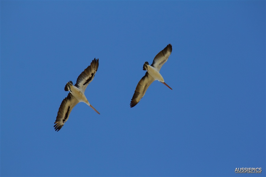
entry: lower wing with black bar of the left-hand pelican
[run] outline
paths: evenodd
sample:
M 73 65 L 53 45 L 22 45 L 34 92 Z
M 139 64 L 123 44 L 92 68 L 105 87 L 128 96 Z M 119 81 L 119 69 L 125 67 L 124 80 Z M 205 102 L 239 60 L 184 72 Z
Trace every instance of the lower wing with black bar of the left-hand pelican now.
M 57 113 L 56 121 L 54 122 L 55 125 L 53 126 L 55 131 L 59 131 L 63 127 L 65 122 L 67 122 L 67 119 L 69 118 L 69 114 L 72 111 L 73 107 L 78 103 L 79 101 L 74 96 L 72 96 L 71 93 L 69 93 L 67 97 L 62 101 Z

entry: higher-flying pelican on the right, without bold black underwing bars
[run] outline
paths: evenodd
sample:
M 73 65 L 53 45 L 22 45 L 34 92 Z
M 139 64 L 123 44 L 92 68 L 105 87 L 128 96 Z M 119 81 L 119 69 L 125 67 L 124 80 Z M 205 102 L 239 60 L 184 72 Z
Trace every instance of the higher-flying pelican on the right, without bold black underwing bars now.
M 162 51 L 160 51 L 155 58 L 153 59 L 153 64 L 149 65 L 149 63 L 146 61 L 143 65 L 143 70 L 147 70 L 145 76 L 143 76 L 135 90 L 135 93 L 131 99 L 130 107 L 136 106 L 140 99 L 145 95 L 145 92 L 147 91 L 148 87 L 150 86 L 153 81 L 160 81 L 164 85 L 166 85 L 169 89 L 169 87 L 162 77 L 162 75 L 159 73 L 162 65 L 168 60 L 169 56 L 172 52 L 172 45 L 168 44 Z M 171 89 L 173 90 L 173 89 Z

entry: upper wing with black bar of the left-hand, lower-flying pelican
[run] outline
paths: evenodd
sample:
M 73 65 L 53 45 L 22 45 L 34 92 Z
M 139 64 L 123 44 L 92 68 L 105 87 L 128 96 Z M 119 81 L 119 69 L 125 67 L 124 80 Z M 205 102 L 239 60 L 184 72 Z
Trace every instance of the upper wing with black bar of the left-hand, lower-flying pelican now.
M 79 88 L 83 94 L 89 85 L 89 83 L 93 80 L 96 71 L 98 70 L 99 66 L 99 59 L 92 60 L 90 65 L 80 74 L 80 76 L 77 78 L 77 82 L 75 86 Z

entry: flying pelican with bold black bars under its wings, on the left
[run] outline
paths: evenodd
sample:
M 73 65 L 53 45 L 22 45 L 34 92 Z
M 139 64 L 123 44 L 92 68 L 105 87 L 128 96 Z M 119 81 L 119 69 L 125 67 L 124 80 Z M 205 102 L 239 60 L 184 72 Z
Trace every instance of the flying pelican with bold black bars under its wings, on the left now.
M 84 95 L 85 89 L 89 85 L 89 83 L 93 80 L 96 71 L 98 70 L 99 66 L 99 59 L 92 60 L 90 65 L 80 74 L 80 76 L 77 78 L 77 82 L 75 85 L 73 85 L 72 81 L 69 81 L 67 85 L 65 86 L 65 91 L 70 91 L 70 93 L 67 95 L 67 97 L 62 101 L 56 121 L 54 122 L 55 125 L 53 126 L 55 131 L 59 131 L 65 122 L 67 122 L 67 119 L 69 118 L 69 114 L 78 104 L 79 102 L 84 102 L 87 105 L 89 105 L 95 112 L 100 114 L 87 100 L 86 96 Z

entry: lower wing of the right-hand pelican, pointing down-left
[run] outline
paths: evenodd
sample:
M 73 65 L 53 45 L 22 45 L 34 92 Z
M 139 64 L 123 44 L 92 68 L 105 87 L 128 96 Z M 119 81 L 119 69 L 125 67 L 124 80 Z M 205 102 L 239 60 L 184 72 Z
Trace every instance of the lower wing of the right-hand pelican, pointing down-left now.
M 154 78 L 148 72 L 146 72 L 145 76 L 140 79 L 136 87 L 135 93 L 130 102 L 131 108 L 140 102 L 140 99 L 142 99 L 142 97 L 145 95 L 146 90 L 150 84 L 153 83 L 153 81 L 155 81 Z

